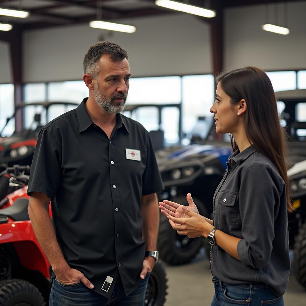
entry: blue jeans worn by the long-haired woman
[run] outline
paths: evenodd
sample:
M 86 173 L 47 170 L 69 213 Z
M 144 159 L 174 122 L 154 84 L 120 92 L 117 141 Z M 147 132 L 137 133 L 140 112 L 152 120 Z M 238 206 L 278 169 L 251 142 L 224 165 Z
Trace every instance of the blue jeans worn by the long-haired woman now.
M 284 306 L 284 298 L 277 297 L 264 283 L 230 285 L 215 277 L 212 281 L 215 284 L 215 295 L 211 306 Z

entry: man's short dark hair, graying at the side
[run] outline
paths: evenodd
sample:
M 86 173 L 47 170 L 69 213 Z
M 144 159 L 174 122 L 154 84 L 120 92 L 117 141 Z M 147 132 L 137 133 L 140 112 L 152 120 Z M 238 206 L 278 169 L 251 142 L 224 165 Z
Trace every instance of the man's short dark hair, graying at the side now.
M 128 53 L 116 43 L 111 41 L 99 41 L 91 45 L 84 56 L 84 73 L 90 74 L 94 79 L 98 77 L 98 62 L 103 54 L 109 54 L 112 62 L 129 59 Z

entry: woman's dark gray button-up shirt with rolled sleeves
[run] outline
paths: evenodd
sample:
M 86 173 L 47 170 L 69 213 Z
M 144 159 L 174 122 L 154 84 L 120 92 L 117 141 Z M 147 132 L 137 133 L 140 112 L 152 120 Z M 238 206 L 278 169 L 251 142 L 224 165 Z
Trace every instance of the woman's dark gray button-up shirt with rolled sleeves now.
M 237 150 L 213 199 L 214 225 L 241 238 L 238 260 L 212 247 L 211 272 L 229 284 L 264 282 L 282 296 L 290 272 L 285 182 L 253 146 Z

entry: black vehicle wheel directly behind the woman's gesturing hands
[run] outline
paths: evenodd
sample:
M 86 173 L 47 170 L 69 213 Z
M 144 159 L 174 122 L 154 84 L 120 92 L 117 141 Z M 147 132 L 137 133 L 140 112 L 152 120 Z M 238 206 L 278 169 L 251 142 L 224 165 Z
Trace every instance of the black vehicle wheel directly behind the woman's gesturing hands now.
M 200 200 L 193 199 L 202 216 L 207 216 L 207 210 Z M 186 204 L 185 196 L 178 196 L 173 202 Z M 162 215 L 159 223 L 158 250 L 163 261 L 171 265 L 189 263 L 203 247 L 204 237 L 188 238 L 173 230 L 168 219 Z

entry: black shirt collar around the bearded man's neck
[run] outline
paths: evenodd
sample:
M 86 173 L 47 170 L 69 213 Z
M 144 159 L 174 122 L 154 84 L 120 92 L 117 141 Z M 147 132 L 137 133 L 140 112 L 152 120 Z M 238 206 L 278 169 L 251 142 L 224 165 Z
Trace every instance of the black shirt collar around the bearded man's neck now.
M 81 104 L 76 108 L 76 117 L 77 117 L 77 121 L 79 125 L 79 130 L 78 130 L 79 133 L 85 131 L 86 129 L 90 127 L 91 124 L 93 124 L 86 110 L 86 107 L 85 107 L 85 103 L 87 99 L 88 98 L 84 98 Z M 117 117 L 116 118 L 117 119 L 117 124 L 116 124 L 117 129 L 121 128 L 123 125 L 126 131 L 130 134 L 129 129 L 127 127 L 128 124 L 127 124 L 126 118 L 122 116 L 121 114 L 116 114 L 116 117 Z

